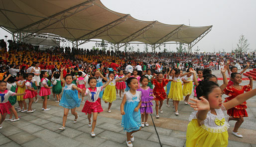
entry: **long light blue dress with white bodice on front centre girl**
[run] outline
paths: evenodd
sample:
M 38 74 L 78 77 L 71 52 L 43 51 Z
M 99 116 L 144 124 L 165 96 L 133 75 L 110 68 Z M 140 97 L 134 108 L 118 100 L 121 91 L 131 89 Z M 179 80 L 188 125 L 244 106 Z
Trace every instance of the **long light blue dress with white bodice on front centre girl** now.
M 131 132 L 139 130 L 141 127 L 141 117 L 140 111 L 135 112 L 135 107 L 138 106 L 138 103 L 141 98 L 141 92 L 136 91 L 135 95 L 132 95 L 130 91 L 126 93 L 126 104 L 124 107 L 125 115 L 122 117 L 122 127 L 124 127 L 124 131 Z

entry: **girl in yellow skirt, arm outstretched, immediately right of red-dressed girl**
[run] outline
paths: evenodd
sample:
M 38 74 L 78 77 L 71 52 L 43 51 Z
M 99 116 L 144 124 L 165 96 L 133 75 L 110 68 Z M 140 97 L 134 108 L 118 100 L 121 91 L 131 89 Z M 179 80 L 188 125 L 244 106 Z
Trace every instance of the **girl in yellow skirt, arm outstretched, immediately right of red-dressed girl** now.
M 172 79 L 176 82 L 173 83 L 173 89 L 170 91 L 168 98 L 173 99 L 175 115 L 179 115 L 179 112 L 178 112 L 179 101 L 183 100 L 181 77 L 188 75 L 189 72 L 185 74 L 180 74 L 179 69 L 175 69 L 174 71 L 175 71 L 175 74 L 172 76 Z

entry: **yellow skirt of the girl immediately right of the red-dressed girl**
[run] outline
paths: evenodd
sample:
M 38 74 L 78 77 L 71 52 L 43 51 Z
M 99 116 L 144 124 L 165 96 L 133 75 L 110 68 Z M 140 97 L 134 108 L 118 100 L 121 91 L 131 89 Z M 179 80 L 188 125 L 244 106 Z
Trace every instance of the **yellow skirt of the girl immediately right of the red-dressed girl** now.
M 172 98 L 173 100 L 179 101 L 183 100 L 181 82 L 171 82 L 171 88 L 167 98 Z

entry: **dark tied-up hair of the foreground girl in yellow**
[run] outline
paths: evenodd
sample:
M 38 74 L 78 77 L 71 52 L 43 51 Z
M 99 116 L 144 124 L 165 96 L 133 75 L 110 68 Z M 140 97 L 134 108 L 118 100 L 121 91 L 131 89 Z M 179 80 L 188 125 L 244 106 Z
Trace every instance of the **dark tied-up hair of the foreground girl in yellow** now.
M 212 92 L 212 90 L 219 85 L 213 81 L 200 81 L 199 85 L 196 87 L 196 97 L 199 99 L 204 96 L 208 99 L 208 95 Z

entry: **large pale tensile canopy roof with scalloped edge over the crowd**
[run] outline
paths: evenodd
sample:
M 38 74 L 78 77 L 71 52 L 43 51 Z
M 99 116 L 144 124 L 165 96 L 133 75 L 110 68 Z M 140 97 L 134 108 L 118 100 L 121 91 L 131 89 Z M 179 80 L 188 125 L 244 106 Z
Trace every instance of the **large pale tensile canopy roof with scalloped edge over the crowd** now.
M 28 36 L 51 33 L 70 41 L 103 39 L 113 44 L 149 45 L 191 44 L 212 28 L 137 20 L 108 9 L 100 0 L 1 0 L 0 26 L 12 33 L 28 32 Z

